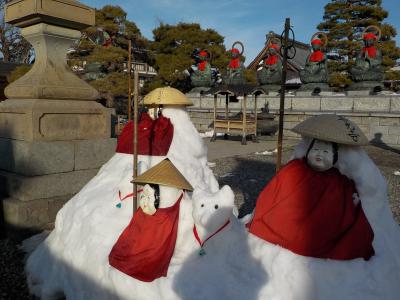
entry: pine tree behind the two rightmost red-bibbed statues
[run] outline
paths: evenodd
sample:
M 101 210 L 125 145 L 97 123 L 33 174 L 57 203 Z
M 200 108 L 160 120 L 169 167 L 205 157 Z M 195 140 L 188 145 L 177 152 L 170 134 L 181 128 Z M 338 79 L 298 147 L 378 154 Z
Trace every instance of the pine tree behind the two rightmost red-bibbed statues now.
M 400 48 L 393 39 L 396 29 L 383 20 L 388 12 L 382 8 L 381 0 L 332 0 L 325 6 L 323 22 L 317 28 L 328 35 L 328 52 L 336 52 L 338 60 L 328 63 L 331 71 L 331 84 L 343 86 L 351 83 L 347 73 L 352 58 L 362 47 L 362 32 L 369 25 L 376 25 L 382 30 L 378 47 L 382 50 L 383 65 L 386 70 L 396 64 L 400 57 Z M 400 73 L 387 72 L 387 79 L 400 79 Z

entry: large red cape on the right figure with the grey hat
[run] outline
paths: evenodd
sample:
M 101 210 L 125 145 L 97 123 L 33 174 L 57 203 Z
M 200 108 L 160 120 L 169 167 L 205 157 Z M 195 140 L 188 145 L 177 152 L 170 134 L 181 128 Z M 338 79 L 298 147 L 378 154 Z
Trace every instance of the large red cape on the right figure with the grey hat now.
M 289 162 L 258 197 L 249 231 L 304 256 L 348 260 L 374 255 L 374 233 L 354 183 L 332 168 Z

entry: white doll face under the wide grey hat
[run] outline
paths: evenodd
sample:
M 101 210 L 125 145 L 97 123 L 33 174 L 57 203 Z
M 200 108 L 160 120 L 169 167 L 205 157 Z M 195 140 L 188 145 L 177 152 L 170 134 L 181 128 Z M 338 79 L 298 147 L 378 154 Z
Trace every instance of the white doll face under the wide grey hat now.
M 326 171 L 332 168 L 332 143 L 315 140 L 313 147 L 308 152 L 307 163 L 315 171 Z

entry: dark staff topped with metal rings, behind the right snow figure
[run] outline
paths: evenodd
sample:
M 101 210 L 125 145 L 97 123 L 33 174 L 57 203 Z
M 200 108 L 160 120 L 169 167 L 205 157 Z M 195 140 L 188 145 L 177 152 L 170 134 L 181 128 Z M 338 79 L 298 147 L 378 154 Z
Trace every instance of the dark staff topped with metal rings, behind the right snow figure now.
M 286 71 L 287 71 L 287 57 L 288 57 L 288 44 L 289 44 L 289 29 L 290 19 L 286 18 L 285 21 L 285 37 L 284 43 L 284 54 L 283 54 L 283 70 L 282 70 L 282 81 L 281 81 L 281 101 L 279 105 L 279 133 L 278 133 L 278 153 L 276 157 L 276 173 L 281 168 L 282 162 L 282 140 L 283 140 L 283 116 L 285 113 L 285 84 L 286 84 Z

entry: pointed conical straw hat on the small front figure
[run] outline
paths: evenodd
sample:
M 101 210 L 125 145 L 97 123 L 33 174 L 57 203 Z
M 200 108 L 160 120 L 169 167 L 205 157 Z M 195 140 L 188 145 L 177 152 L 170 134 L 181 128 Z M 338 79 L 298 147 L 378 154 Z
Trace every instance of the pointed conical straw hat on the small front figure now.
M 135 183 L 152 183 L 193 191 L 182 173 L 167 158 L 133 180 Z

